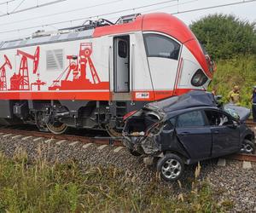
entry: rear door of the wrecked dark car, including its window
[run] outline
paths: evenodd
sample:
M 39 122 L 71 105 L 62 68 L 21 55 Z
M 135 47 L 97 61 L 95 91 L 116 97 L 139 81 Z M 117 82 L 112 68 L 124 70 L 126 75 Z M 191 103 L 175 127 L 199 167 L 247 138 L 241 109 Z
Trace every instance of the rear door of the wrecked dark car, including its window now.
M 201 110 L 185 112 L 177 117 L 176 132 L 193 159 L 209 158 L 212 148 L 212 135 Z

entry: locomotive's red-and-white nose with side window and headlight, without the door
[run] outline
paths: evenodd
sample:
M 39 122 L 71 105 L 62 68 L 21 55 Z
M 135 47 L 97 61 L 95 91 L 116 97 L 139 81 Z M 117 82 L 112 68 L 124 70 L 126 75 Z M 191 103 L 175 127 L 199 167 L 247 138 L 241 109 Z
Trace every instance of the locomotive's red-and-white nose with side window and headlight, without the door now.
M 207 89 L 214 64 L 181 20 L 171 14 L 146 14 L 143 39 L 156 100 L 165 98 L 160 94 L 166 91 L 182 95 Z

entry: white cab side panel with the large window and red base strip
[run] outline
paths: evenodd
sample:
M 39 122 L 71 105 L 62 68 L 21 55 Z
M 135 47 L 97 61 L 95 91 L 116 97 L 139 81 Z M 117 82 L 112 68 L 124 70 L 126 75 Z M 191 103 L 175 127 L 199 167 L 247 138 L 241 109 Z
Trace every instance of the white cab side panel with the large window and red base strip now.
M 167 94 L 167 92 L 172 95 L 182 43 L 160 32 L 144 32 L 143 40 L 155 98 L 160 99 L 160 94 Z

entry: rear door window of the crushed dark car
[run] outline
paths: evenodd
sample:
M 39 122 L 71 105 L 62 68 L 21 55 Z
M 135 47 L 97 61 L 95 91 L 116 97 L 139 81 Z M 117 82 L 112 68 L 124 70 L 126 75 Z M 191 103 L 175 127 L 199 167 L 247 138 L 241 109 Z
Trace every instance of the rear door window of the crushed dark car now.
M 205 119 L 201 111 L 187 112 L 179 115 L 176 127 L 205 126 Z

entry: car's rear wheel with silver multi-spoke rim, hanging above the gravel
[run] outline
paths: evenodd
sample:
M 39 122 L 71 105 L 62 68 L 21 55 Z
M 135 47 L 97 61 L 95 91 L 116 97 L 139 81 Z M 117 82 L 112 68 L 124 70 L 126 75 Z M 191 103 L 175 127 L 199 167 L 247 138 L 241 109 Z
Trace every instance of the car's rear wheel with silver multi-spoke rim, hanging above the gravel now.
M 183 175 L 183 160 L 176 154 L 168 153 L 158 160 L 156 169 L 163 180 L 177 181 Z

